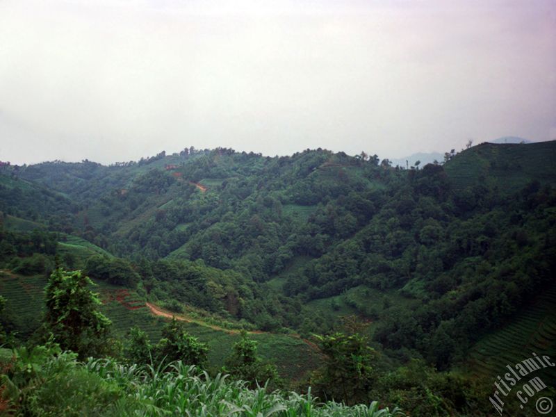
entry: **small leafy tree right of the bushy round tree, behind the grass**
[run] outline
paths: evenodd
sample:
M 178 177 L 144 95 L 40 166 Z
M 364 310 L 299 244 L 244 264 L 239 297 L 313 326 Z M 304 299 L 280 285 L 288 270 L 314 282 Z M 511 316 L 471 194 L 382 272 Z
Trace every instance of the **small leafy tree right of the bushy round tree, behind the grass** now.
M 246 381 L 251 389 L 256 389 L 257 384 L 262 385 L 265 381 L 275 384 L 278 379 L 276 366 L 263 362 L 256 355 L 256 350 L 257 342 L 250 339 L 247 332 L 242 330 L 241 338 L 234 343 L 224 368 L 224 372 Z

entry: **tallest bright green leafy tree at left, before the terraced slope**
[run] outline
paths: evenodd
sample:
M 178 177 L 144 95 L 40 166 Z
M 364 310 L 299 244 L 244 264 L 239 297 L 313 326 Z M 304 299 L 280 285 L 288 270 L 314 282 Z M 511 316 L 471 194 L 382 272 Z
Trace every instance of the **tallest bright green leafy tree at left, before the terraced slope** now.
M 111 350 L 111 320 L 101 313 L 93 285 L 81 271 L 57 268 L 46 288 L 44 327 L 63 350 L 72 350 L 80 359 L 107 354 Z

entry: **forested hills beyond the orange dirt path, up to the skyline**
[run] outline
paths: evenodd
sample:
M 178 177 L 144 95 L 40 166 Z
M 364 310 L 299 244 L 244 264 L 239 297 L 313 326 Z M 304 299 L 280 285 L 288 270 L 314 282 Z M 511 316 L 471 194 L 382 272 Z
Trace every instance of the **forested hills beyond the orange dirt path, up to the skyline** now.
M 320 392 L 353 402 L 372 391 L 409 407 L 418 400 L 400 375 L 420 363 L 430 386 L 444 384 L 427 366 L 461 369 L 476 343 L 556 288 L 556 142 L 482 144 L 446 159 L 407 170 L 364 152 L 265 157 L 192 147 L 111 166 L 2 167 L 0 289 L 11 305 L 3 323 L 17 330 L 9 277 L 80 269 L 128 288 L 139 304 L 196 311 L 231 329 L 352 331 L 350 343 L 361 337 L 379 352 L 373 368 L 393 374 L 364 395 L 325 384 Z M 553 302 L 543 299 L 548 310 Z M 33 334 L 23 330 L 20 338 Z M 556 334 L 543 340 L 556 357 Z M 330 357 L 331 341 L 314 342 Z M 519 347 L 507 349 L 516 357 Z M 469 371 L 458 377 L 479 378 Z M 306 382 L 332 379 L 318 375 Z M 404 394 L 381 393 L 388 380 Z M 449 403 L 439 410 L 468 407 L 438 395 Z

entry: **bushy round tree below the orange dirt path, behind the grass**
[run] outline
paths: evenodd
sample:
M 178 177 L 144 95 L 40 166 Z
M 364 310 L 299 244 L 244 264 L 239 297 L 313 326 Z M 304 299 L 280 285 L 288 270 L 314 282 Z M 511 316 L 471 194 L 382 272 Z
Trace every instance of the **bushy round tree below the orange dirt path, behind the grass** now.
M 203 367 L 206 364 L 208 347 L 190 336 L 181 322 L 172 319 L 162 329 L 162 338 L 155 347 L 158 360 L 171 362 L 182 361 L 187 365 Z

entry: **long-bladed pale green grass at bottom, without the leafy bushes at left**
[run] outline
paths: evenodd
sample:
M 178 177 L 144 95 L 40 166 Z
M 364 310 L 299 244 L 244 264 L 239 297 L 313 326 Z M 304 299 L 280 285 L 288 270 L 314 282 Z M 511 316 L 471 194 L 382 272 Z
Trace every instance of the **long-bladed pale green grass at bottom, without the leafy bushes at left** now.
M 318 404 L 316 398 L 297 393 L 267 393 L 265 387 L 250 390 L 244 382 L 231 381 L 228 375 L 210 377 L 195 366 L 177 361 L 161 370 L 152 366 L 124 366 L 107 359 L 88 361 L 85 367 L 106 381 L 121 386 L 127 397 L 116 404 L 121 416 L 357 416 L 388 417 L 400 411 L 370 405 L 346 407 L 336 402 Z M 136 405 L 136 409 L 129 406 Z

